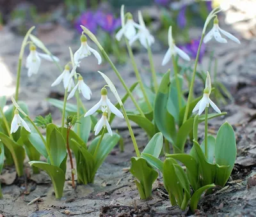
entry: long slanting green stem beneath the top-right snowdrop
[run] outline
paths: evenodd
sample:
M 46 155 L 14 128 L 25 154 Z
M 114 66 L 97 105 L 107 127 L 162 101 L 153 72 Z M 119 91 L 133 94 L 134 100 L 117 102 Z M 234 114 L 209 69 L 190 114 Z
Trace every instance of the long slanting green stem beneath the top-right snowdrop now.
M 195 66 L 194 66 L 194 70 L 193 70 L 191 84 L 190 84 L 190 87 L 189 87 L 188 101 L 187 101 L 186 110 L 185 110 L 185 114 L 184 114 L 184 118 L 183 118 L 183 123 L 185 123 L 186 120 L 188 119 L 189 104 L 190 104 L 190 102 L 192 100 L 192 96 L 193 96 L 193 88 L 194 88 L 194 82 L 195 82 L 195 76 L 196 76 L 196 66 L 197 66 L 197 63 L 198 63 L 198 59 L 199 59 L 203 39 L 204 39 L 204 33 L 202 33 L 202 37 L 201 37 L 199 47 L 198 47 L 198 50 L 197 50 L 197 54 L 196 54 Z

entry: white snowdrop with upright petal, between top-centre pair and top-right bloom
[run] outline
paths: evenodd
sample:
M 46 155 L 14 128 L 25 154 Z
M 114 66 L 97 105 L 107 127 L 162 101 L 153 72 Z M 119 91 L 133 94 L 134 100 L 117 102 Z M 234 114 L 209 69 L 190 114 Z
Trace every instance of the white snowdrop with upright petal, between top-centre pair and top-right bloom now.
M 174 40 L 172 38 L 172 26 L 169 27 L 169 31 L 168 31 L 168 44 L 169 44 L 169 49 L 164 55 L 162 66 L 168 63 L 172 58 L 172 56 L 176 56 L 177 54 L 183 59 L 185 59 L 186 61 L 190 61 L 190 57 L 188 56 L 188 54 L 186 54 L 183 50 L 179 49 L 179 47 L 175 45 Z

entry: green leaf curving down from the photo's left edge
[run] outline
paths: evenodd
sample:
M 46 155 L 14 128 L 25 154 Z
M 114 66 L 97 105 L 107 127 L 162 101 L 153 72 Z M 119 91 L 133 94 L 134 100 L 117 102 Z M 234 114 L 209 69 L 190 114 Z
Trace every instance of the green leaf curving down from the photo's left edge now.
M 18 176 L 23 176 L 23 161 L 25 159 L 25 151 L 22 146 L 13 141 L 10 137 L 0 132 L 0 139 L 2 140 L 4 146 L 6 146 L 15 164 L 15 168 Z

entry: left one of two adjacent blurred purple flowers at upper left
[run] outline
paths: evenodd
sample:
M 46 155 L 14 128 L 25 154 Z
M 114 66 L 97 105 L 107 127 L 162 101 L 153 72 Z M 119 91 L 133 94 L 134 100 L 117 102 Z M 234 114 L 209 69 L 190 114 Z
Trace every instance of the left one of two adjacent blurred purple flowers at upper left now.
M 82 13 L 75 21 L 75 27 L 77 31 L 82 33 L 83 29 L 81 29 L 80 25 L 88 28 L 93 34 L 97 33 L 97 22 L 92 11 L 86 11 Z

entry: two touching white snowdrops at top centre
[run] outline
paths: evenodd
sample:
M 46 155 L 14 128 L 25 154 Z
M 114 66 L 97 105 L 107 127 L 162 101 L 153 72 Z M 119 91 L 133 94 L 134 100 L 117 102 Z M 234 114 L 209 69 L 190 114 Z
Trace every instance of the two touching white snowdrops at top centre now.
M 125 22 L 124 5 L 121 6 L 121 24 L 122 27 L 116 33 L 116 40 L 120 41 L 122 36 L 125 36 L 129 40 L 129 44 L 132 45 L 134 41 L 140 40 L 140 43 L 145 49 L 148 49 L 155 42 L 154 36 L 150 34 L 145 22 L 143 20 L 141 11 L 138 11 L 139 24 L 134 22 L 131 13 L 127 13 L 127 20 Z M 138 29 L 138 33 L 136 31 Z

